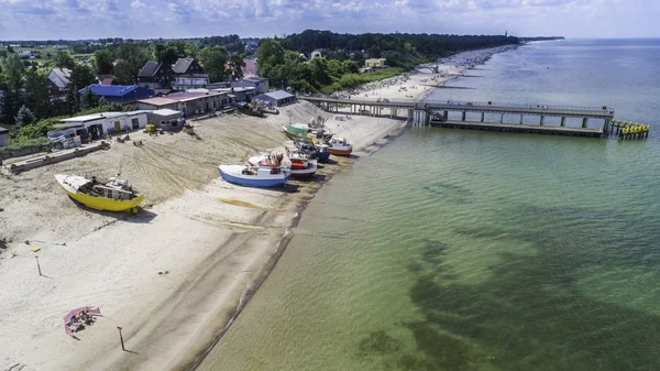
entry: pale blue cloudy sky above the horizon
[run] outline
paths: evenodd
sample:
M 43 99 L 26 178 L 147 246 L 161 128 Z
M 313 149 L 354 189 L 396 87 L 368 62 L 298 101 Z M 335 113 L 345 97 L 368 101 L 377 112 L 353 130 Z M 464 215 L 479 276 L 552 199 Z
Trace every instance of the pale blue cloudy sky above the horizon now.
M 660 37 L 659 0 L 0 0 L 0 40 L 265 37 L 306 29 Z

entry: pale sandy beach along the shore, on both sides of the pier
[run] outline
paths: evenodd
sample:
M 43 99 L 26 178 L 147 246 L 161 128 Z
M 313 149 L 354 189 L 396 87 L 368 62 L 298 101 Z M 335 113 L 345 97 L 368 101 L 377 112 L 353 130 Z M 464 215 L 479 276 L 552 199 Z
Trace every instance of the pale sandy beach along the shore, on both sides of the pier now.
M 499 51 L 461 53 L 436 64 L 436 72 L 419 68 L 356 90 L 416 99 Z M 219 164 L 282 149 L 289 143 L 283 124 L 318 116 L 353 143 L 352 159 L 334 159 L 315 182 L 290 182 L 284 189 L 244 188 L 219 178 Z M 112 142 L 107 151 L 0 176 L 0 240 L 6 241 L 0 249 L 0 371 L 194 364 L 267 276 L 290 238 L 288 228 L 315 192 L 405 127 L 400 120 L 361 116 L 340 121 L 304 101 L 264 119 L 228 114 L 191 123 L 197 137 L 131 133 L 144 145 Z M 107 178 L 119 172 L 146 195 L 136 216 L 79 207 L 53 176 Z M 102 316 L 69 337 L 63 317 L 88 305 L 99 306 Z

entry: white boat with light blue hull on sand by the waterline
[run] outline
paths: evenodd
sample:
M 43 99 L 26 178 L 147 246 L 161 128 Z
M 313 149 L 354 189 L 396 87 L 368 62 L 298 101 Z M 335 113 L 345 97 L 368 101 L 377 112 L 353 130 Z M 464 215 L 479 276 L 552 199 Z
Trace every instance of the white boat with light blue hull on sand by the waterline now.
M 218 170 L 226 182 L 246 187 L 276 187 L 290 176 L 287 170 L 273 166 L 220 165 Z

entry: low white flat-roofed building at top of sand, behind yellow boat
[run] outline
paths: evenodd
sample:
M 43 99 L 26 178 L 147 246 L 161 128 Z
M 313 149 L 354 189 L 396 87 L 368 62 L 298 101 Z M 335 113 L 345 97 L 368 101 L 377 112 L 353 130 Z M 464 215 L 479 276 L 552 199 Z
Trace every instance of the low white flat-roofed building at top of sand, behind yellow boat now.
M 147 111 L 129 111 L 78 116 L 62 120 L 63 128 L 48 131 L 47 135 L 48 138 L 57 138 L 59 135 L 88 134 L 92 140 L 97 140 L 106 134 L 144 129 L 148 122 L 147 113 Z

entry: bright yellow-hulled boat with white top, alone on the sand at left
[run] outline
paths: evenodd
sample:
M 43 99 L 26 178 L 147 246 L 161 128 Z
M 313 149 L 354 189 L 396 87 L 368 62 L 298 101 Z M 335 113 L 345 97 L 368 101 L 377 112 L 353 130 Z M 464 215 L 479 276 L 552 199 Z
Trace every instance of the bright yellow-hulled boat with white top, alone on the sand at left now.
M 73 199 L 96 210 L 138 212 L 144 195 L 133 190 L 127 181 L 111 177 L 98 182 L 96 176 L 56 174 L 55 179 Z

